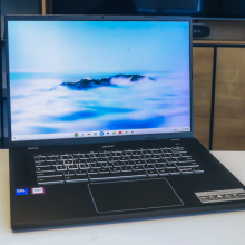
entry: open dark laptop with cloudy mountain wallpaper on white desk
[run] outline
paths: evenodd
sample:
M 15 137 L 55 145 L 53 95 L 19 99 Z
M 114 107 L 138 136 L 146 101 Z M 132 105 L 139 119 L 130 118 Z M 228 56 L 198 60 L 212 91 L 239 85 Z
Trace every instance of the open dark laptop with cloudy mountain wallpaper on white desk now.
M 6 18 L 11 228 L 245 207 L 193 137 L 188 17 Z

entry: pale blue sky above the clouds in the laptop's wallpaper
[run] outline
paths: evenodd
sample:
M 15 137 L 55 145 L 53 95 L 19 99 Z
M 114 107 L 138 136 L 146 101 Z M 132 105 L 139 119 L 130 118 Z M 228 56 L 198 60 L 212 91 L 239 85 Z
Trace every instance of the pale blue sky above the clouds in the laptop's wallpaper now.
M 10 21 L 10 72 L 188 71 L 188 22 Z

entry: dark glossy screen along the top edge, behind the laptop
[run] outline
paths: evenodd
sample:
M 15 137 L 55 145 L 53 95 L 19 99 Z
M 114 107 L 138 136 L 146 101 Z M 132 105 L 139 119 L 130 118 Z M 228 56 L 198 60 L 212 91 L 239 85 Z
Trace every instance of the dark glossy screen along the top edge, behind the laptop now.
M 245 19 L 245 0 L 51 0 L 51 14 L 192 16 Z

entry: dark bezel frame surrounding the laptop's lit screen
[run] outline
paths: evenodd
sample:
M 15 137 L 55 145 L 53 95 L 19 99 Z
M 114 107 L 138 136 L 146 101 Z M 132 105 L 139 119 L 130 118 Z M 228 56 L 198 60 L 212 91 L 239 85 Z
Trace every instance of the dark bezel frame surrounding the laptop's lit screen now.
M 11 134 L 11 106 L 10 106 L 10 77 L 9 77 L 9 42 L 8 22 L 9 21 L 187 21 L 189 22 L 189 92 L 190 92 L 190 131 L 144 134 L 144 135 L 122 135 L 108 137 L 85 137 L 85 138 L 63 138 L 63 139 L 42 139 L 12 141 Z M 78 144 L 110 144 L 119 141 L 156 140 L 168 138 L 193 138 L 194 115 L 193 115 L 193 28 L 190 17 L 159 17 L 159 16 L 7 16 L 4 22 L 6 30 L 6 58 L 7 58 L 7 90 L 8 90 L 8 139 L 9 148 L 12 147 L 35 147 L 35 146 L 57 146 L 57 145 L 78 145 Z

